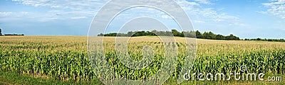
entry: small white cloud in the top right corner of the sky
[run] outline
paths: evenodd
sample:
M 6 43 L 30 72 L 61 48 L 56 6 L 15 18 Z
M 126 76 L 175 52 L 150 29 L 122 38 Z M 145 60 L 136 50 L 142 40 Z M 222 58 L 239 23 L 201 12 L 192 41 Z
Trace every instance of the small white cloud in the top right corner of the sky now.
M 266 13 L 272 16 L 285 19 L 285 0 L 270 0 L 269 3 L 262 4 L 269 9 L 266 11 L 259 11 L 259 13 Z

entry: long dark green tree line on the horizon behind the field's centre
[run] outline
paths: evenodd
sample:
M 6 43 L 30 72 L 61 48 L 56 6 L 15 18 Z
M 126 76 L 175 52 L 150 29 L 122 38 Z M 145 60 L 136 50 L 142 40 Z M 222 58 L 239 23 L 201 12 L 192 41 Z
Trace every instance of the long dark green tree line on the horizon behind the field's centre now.
M 103 34 L 100 33 L 98 36 L 125 36 L 125 37 L 136 37 L 136 36 L 146 36 L 146 35 L 166 35 L 166 36 L 177 36 L 177 37 L 187 37 L 187 38 L 201 38 L 201 39 L 211 39 L 211 40 L 240 40 L 239 37 L 235 35 L 220 35 L 220 34 L 214 34 L 212 32 L 204 32 L 200 33 L 199 30 L 196 31 L 182 31 L 179 32 L 177 30 L 171 30 L 171 31 L 130 31 L 128 33 L 107 33 Z

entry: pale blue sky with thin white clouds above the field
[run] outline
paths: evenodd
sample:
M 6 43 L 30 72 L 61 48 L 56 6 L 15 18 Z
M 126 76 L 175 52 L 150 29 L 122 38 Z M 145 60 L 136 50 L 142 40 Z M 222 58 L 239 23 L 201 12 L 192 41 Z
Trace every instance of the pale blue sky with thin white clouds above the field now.
M 94 16 L 109 0 L 1 0 L 2 33 L 88 35 Z M 239 38 L 285 38 L 285 0 L 175 0 L 193 30 L 234 34 Z M 156 18 L 167 28 L 179 26 L 162 11 L 137 7 L 120 13 L 106 33 L 118 32 L 138 17 Z M 135 22 L 135 21 L 134 21 Z M 147 25 L 141 22 L 138 27 Z M 128 30 L 141 30 L 129 28 Z M 147 29 L 153 30 L 153 29 Z M 158 29 L 160 30 L 160 29 Z

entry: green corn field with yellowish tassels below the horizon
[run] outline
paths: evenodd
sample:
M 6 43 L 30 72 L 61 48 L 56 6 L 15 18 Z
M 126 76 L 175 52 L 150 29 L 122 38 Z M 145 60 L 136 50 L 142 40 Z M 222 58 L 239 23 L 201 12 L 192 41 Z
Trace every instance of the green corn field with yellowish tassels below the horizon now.
M 178 59 L 172 77 L 178 77 L 185 58 L 185 43 L 175 38 Z M 104 38 L 108 64 L 120 77 L 143 80 L 160 69 L 165 48 L 159 38 L 136 37 L 128 42 L 130 58 L 141 60 L 141 49 L 152 47 L 154 58 L 145 69 L 130 69 L 120 62 L 113 47 L 115 38 Z M 86 36 L 19 36 L 0 37 L 0 70 L 52 77 L 61 81 L 91 81 L 96 78 L 90 66 Z M 285 43 L 255 41 L 197 40 L 193 73 L 247 72 L 285 74 Z

